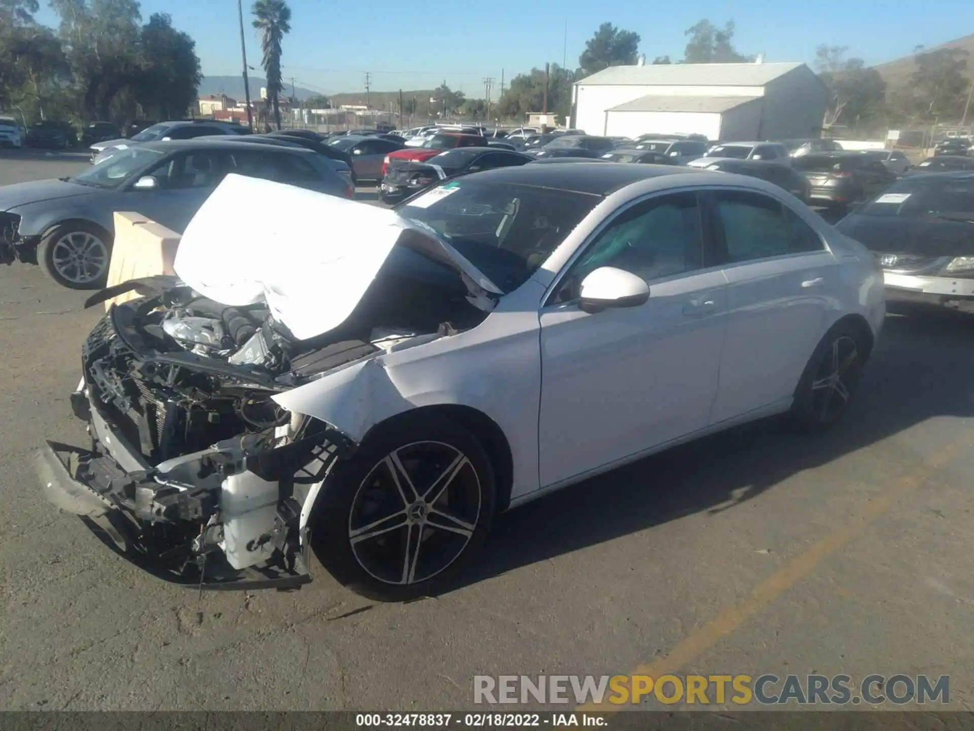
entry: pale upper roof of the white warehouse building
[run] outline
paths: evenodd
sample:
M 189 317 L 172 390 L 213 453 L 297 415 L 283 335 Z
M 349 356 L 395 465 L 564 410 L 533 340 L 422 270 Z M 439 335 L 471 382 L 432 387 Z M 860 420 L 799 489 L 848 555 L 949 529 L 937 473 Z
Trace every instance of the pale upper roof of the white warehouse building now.
M 610 66 L 576 84 L 628 86 L 763 87 L 804 63 L 654 63 Z

